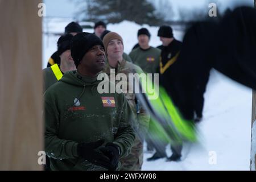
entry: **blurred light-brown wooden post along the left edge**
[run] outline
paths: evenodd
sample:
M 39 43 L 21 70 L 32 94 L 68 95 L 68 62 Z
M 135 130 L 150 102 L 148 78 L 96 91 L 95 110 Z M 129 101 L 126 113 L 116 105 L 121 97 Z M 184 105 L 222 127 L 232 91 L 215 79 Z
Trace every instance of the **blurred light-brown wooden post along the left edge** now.
M 39 3 L 0 0 L 0 170 L 43 169 Z

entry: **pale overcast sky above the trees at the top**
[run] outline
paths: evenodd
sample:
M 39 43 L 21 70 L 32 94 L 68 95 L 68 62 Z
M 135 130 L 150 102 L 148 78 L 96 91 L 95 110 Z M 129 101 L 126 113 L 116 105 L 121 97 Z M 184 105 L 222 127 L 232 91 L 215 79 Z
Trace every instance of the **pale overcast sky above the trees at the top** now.
M 133 0 L 135 1 L 135 0 Z M 157 0 L 157 1 L 169 1 L 172 9 L 176 12 L 178 9 L 193 9 L 199 7 L 207 6 L 208 0 Z M 227 7 L 231 9 L 241 3 L 253 6 L 254 0 L 213 0 L 212 2 L 217 2 L 217 8 L 220 7 L 220 11 L 224 11 Z M 67 17 L 73 18 L 75 12 L 77 11 L 77 4 L 72 0 L 44 0 L 46 3 L 46 16 L 57 16 L 57 17 Z M 206 7 L 208 8 L 208 7 Z

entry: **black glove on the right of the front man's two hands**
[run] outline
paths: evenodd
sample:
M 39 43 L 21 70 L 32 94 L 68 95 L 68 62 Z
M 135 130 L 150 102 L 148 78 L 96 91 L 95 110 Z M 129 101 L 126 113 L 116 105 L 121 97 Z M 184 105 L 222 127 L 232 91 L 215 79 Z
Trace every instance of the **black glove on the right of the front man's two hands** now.
M 105 147 L 100 148 L 100 151 L 103 152 L 110 159 L 109 171 L 114 171 L 117 169 L 118 160 L 119 160 L 119 147 L 113 143 L 107 143 Z

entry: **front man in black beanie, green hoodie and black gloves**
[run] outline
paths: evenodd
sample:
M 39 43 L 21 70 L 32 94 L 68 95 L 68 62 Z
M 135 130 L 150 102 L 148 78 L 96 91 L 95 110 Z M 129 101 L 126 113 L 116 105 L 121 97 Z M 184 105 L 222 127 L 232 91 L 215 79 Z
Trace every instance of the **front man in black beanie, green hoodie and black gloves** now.
M 119 169 L 119 158 L 130 153 L 135 141 L 131 109 L 123 93 L 98 91 L 98 74 L 105 67 L 100 38 L 77 34 L 71 55 L 77 70 L 65 73 L 44 94 L 44 139 L 51 169 Z

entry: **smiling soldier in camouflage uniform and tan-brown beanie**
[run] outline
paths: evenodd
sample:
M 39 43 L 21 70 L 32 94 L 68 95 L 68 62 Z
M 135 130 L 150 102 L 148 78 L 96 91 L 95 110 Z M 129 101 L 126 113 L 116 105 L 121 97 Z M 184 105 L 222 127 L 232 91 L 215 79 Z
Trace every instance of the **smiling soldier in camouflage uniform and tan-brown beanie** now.
M 105 52 L 108 57 L 108 61 L 104 72 L 110 76 L 110 69 L 114 69 L 115 75 L 118 73 L 124 73 L 127 76 L 127 87 L 129 88 L 129 73 L 142 72 L 142 69 L 137 65 L 123 60 L 123 40 L 120 35 L 115 32 L 109 32 L 103 39 Z M 110 80 L 111 81 L 111 80 Z M 125 89 L 125 88 L 122 88 Z M 129 88 L 131 89 L 131 88 Z M 135 138 L 135 144 L 131 148 L 131 153 L 125 158 L 121 158 L 121 170 L 135 171 L 141 170 L 143 163 L 143 135 L 147 133 L 149 114 L 143 109 L 143 107 L 138 106 L 138 101 L 135 97 L 135 93 L 124 93 L 125 97 L 135 115 L 135 131 L 137 131 L 137 136 Z

